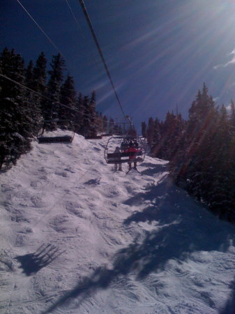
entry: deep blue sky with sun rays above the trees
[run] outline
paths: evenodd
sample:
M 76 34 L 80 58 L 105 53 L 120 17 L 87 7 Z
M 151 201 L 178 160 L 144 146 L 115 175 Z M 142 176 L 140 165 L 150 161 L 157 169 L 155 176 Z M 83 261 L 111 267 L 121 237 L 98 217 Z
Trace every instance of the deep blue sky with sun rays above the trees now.
M 123 114 L 79 1 L 19 1 L 0 1 L 0 47 L 15 48 L 26 63 L 44 51 L 49 64 L 61 52 L 77 91 L 96 90 L 98 111 L 119 121 Z M 235 99 L 233 0 L 84 3 L 123 111 L 137 128 L 176 108 L 186 119 L 203 82 L 218 105 Z

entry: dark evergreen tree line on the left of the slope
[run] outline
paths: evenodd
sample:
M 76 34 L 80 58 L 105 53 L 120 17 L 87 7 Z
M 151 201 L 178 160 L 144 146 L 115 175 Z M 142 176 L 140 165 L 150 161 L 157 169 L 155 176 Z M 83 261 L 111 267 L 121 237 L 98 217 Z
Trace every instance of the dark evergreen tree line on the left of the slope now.
M 16 84 L 17 82 L 17 84 Z M 47 70 L 45 53 L 25 65 L 21 54 L 4 48 L 0 54 L 0 170 L 15 165 L 31 149 L 40 128 L 62 128 L 84 136 L 105 133 L 114 120 L 96 111 L 96 93 L 75 90 L 66 62 L 52 56 Z

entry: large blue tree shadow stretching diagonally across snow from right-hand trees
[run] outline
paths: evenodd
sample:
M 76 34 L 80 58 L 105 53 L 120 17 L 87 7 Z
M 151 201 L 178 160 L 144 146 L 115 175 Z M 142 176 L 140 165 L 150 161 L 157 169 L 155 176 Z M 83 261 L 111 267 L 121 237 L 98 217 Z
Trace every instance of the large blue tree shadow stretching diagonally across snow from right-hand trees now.
M 129 246 L 118 251 L 114 255 L 112 269 L 96 269 L 90 278 L 84 278 L 45 313 L 52 313 L 58 306 L 66 306 L 75 297 L 79 297 L 79 306 L 86 297 L 98 289 L 107 288 L 119 276 L 134 274 L 137 280 L 141 280 L 164 269 L 169 260 L 177 260 L 180 264 L 193 258 L 191 253 L 195 251 L 227 251 L 234 227 L 228 224 L 225 228 L 215 216 L 170 180 L 165 179 L 146 193 L 131 197 L 126 204 L 137 202 L 139 197 L 150 200 L 150 206 L 142 212 L 133 213 L 124 224 L 129 227 L 132 223 L 148 222 L 154 223 L 154 229 L 145 231 L 143 239 L 137 237 Z

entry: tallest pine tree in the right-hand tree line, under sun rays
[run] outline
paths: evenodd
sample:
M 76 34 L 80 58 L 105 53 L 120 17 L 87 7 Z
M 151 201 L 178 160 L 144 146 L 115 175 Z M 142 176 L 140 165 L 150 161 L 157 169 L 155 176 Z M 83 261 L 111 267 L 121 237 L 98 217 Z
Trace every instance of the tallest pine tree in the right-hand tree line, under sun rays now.
M 179 156 L 174 159 L 177 164 L 181 163 L 181 169 L 174 175 L 177 181 L 184 181 L 188 184 L 188 190 L 195 195 L 199 193 L 199 184 L 202 181 L 202 170 L 205 163 L 208 163 L 209 152 L 211 151 L 211 139 L 215 133 L 215 122 L 217 111 L 213 98 L 208 95 L 206 84 L 202 93 L 198 91 L 197 98 L 192 102 L 189 110 L 189 120 L 185 131 L 185 155 L 183 160 Z M 183 164 L 182 164 L 183 163 Z M 179 167 L 176 167 L 179 170 Z

